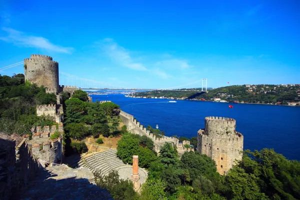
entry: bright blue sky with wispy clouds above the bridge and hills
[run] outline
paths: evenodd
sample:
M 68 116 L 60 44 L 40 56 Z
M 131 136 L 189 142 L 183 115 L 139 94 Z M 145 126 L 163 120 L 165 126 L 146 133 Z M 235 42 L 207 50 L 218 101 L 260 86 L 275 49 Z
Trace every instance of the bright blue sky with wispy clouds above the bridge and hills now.
M 0 68 L 40 53 L 62 72 L 122 87 L 300 83 L 298 0 L 0 4 Z

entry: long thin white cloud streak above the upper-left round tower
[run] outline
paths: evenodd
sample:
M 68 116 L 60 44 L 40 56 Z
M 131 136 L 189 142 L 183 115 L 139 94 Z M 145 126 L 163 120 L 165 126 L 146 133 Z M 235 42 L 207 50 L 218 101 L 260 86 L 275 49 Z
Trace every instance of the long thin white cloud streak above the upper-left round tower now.
M 7 32 L 8 35 L 6 37 L 0 37 L 0 40 L 16 45 L 41 48 L 62 53 L 70 53 L 73 50 L 73 48 L 71 47 L 62 47 L 59 45 L 55 45 L 44 37 L 28 35 L 24 32 L 7 27 L 3 27 L 2 29 Z

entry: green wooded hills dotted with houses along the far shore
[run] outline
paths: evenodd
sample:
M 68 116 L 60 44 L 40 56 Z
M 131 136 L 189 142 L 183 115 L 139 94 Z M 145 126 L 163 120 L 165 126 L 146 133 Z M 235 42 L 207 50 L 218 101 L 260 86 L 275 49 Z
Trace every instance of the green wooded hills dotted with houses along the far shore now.
M 259 85 L 230 85 L 225 87 L 218 87 L 209 89 L 208 92 L 200 94 L 195 98 L 211 100 L 214 97 L 219 97 L 222 100 L 232 102 L 233 100 L 250 102 L 250 103 L 277 103 L 286 104 L 288 101 L 299 101 L 296 91 L 300 90 L 300 85 L 273 85 L 273 84 L 259 84 Z M 146 91 L 135 92 L 134 96 L 147 97 L 189 97 L 197 92 L 193 91 Z

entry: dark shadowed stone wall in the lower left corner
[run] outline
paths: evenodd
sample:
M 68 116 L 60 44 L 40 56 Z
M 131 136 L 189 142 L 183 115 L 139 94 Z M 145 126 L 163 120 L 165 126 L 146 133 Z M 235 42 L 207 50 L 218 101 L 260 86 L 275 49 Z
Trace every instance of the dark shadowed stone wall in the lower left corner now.
M 17 144 L 18 140 L 21 141 Z M 40 166 L 25 141 L 0 133 L 0 199 L 8 200 L 35 176 Z

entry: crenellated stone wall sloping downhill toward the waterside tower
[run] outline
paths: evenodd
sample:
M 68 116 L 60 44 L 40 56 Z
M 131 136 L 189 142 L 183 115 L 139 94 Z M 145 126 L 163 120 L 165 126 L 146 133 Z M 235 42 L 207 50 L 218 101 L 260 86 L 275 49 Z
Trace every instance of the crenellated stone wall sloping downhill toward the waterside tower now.
M 160 147 L 163 146 L 165 142 L 176 145 L 179 149 L 178 152 L 180 151 L 181 154 L 187 150 L 193 150 L 191 148 L 183 148 L 182 143 L 179 144 L 179 139 L 177 139 L 176 137 L 156 137 L 155 135 L 153 135 L 153 133 L 150 133 L 149 130 L 146 130 L 146 128 L 143 127 L 143 125 L 141 125 L 136 119 L 134 119 L 133 115 L 131 114 L 128 114 L 121 110 L 119 116 L 122 119 L 123 123 L 127 126 L 128 131 L 139 135 L 146 135 L 147 137 L 149 137 L 154 142 L 154 150 L 157 153 L 159 153 Z

